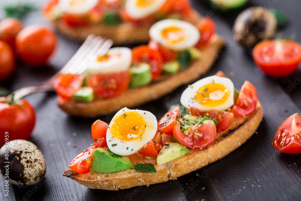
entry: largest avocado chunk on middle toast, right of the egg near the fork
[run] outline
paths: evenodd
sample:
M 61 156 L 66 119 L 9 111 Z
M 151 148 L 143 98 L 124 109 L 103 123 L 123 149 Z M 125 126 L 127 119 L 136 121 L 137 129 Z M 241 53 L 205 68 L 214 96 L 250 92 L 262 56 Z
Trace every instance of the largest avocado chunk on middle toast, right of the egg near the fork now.
M 147 63 L 140 63 L 133 65 L 130 68 L 131 82 L 129 87 L 141 87 L 147 85 L 152 80 L 151 65 Z

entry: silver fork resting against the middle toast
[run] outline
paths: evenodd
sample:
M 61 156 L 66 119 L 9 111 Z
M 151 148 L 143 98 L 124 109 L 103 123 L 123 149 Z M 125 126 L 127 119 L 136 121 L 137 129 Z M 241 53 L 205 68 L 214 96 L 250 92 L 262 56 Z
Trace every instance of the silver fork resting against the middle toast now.
M 87 61 L 89 59 L 104 55 L 110 47 L 113 45 L 113 41 L 111 39 L 105 39 L 101 36 L 96 36 L 94 34 L 90 34 L 82 46 L 78 49 L 78 51 L 73 55 L 73 57 L 67 62 L 64 68 L 61 69 L 57 74 L 81 74 L 87 69 Z M 53 91 L 53 81 L 55 76 L 50 77 L 48 80 L 42 83 L 41 86 L 26 86 L 21 89 L 15 91 L 14 99 L 20 99 L 24 96 L 27 96 L 36 92 L 46 92 Z

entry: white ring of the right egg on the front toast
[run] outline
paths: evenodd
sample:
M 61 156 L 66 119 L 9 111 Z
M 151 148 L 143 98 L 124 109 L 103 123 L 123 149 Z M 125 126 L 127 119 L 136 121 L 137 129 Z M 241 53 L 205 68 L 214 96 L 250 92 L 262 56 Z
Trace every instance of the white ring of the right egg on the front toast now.
M 230 91 L 230 96 L 228 97 L 228 99 L 222 105 L 217 105 L 215 107 L 206 107 L 199 104 L 197 101 L 195 101 L 194 96 L 197 93 L 197 90 L 200 89 L 200 87 L 213 82 L 224 85 Z M 190 107 L 194 107 L 200 111 L 210 111 L 210 110 L 224 111 L 230 108 L 234 104 L 234 85 L 229 78 L 219 77 L 216 75 L 209 76 L 201 80 L 198 80 L 197 82 L 188 86 L 182 93 L 180 101 L 181 104 L 188 109 Z

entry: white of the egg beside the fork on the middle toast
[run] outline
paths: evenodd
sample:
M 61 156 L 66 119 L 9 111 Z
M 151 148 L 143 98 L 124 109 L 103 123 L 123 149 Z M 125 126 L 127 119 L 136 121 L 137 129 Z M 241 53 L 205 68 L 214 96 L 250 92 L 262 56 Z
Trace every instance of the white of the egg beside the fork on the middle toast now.
M 117 73 L 127 71 L 132 64 L 132 51 L 127 47 L 111 48 L 108 54 L 121 54 L 119 58 L 109 61 L 97 61 L 97 57 L 91 59 L 88 63 L 89 74 Z

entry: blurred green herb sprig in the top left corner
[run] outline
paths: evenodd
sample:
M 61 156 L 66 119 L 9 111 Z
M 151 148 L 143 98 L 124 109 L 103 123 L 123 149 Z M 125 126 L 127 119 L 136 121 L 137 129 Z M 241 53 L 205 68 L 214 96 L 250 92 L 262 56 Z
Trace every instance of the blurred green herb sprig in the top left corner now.
M 38 8 L 36 8 L 33 4 L 16 4 L 6 5 L 3 8 L 3 13 L 5 14 L 5 17 L 22 19 L 29 12 L 36 10 L 38 10 Z

